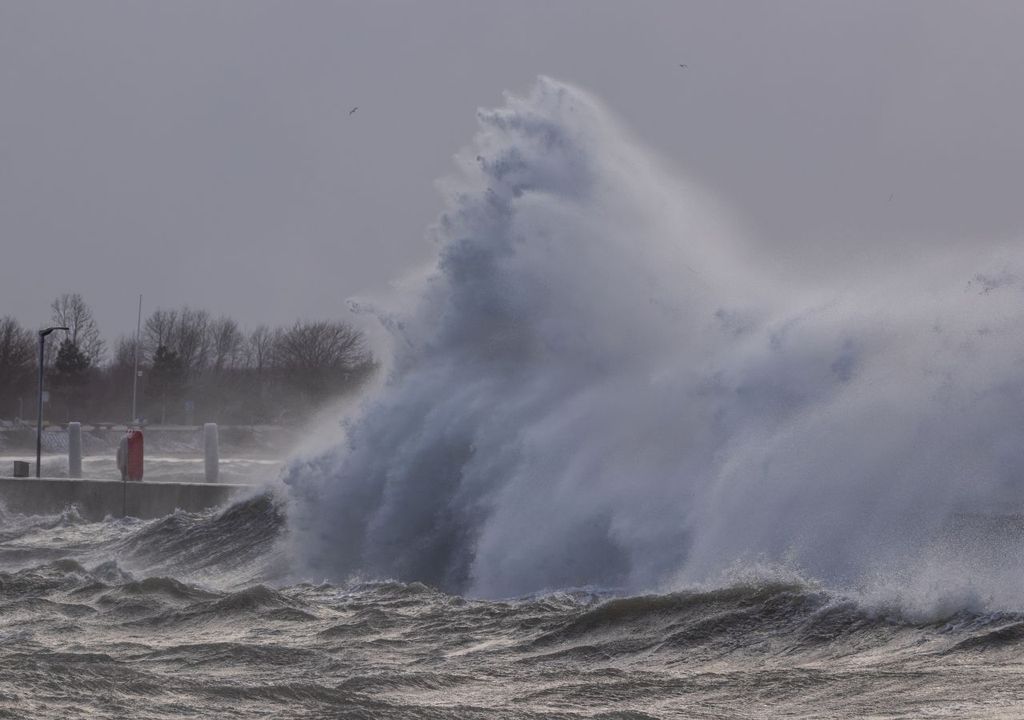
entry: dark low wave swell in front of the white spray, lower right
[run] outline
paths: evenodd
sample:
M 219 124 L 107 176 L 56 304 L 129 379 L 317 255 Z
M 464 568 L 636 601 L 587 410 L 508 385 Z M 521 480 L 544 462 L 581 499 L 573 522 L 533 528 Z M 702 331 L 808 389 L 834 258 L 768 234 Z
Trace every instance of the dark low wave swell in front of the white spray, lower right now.
M 820 589 L 767 583 L 610 599 L 539 634 L 523 649 L 592 657 L 656 652 L 812 659 L 884 653 L 906 642 L 957 652 L 1022 640 L 1020 616 L 962 610 L 944 621 L 919 622 Z

